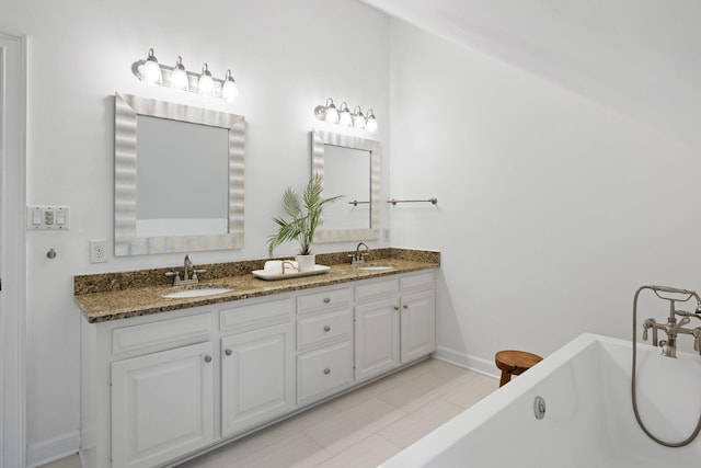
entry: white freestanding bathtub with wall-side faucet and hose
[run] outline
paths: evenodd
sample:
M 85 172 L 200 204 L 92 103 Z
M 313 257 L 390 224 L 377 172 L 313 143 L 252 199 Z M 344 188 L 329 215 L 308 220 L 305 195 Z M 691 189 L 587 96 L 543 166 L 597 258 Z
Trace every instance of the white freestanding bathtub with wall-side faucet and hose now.
M 631 402 L 630 342 L 583 334 L 382 468 L 701 467 L 701 435 L 669 448 L 640 429 Z M 701 356 L 637 346 L 637 404 L 648 430 L 686 440 L 701 413 Z M 537 419 L 536 397 L 545 402 Z

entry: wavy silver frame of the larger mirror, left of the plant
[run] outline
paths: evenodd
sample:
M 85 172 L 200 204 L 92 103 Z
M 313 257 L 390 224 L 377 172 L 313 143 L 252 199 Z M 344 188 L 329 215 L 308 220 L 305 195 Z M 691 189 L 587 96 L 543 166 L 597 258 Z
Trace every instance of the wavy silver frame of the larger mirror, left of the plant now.
M 229 232 L 205 236 L 137 237 L 137 115 L 229 129 Z M 241 249 L 243 247 L 245 121 L 241 115 L 115 93 L 115 255 Z M 206 190 L 206 187 L 200 187 Z

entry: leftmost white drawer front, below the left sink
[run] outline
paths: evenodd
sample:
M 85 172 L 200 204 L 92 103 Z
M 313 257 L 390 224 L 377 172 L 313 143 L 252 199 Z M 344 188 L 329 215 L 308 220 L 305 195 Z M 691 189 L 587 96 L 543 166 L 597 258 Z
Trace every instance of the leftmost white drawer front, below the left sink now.
M 165 349 L 207 339 L 211 330 L 211 316 L 202 313 L 140 326 L 123 327 L 112 331 L 112 353 L 119 354 L 141 349 Z

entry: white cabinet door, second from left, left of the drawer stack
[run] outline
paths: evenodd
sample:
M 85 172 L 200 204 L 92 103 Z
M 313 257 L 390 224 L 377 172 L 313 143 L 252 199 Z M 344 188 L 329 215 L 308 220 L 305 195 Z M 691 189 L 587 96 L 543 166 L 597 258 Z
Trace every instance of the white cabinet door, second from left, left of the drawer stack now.
M 221 435 L 241 433 L 295 407 L 294 323 L 221 339 Z

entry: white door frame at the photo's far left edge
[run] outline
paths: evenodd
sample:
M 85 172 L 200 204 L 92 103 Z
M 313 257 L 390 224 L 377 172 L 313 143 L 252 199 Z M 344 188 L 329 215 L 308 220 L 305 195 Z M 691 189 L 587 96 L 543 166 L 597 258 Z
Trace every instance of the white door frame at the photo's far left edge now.
M 26 463 L 26 38 L 0 32 L 0 468 Z

